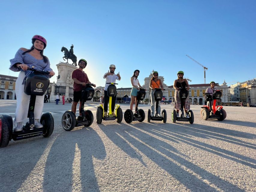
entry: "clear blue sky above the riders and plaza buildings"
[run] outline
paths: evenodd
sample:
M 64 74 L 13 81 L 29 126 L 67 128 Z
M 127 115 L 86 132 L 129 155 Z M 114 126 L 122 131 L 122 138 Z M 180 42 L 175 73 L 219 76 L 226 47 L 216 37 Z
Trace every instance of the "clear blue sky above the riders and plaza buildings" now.
M 185 55 L 208 67 L 206 82 L 246 81 L 256 76 L 255 8 L 255 0 L 1 1 L 0 73 L 18 76 L 9 60 L 37 34 L 47 39 L 44 55 L 56 73 L 62 46 L 74 44 L 97 86 L 110 64 L 120 71 L 118 87 L 131 87 L 135 69 L 141 85 L 153 69 L 167 85 L 179 70 L 190 84 L 203 83 L 203 67 Z

